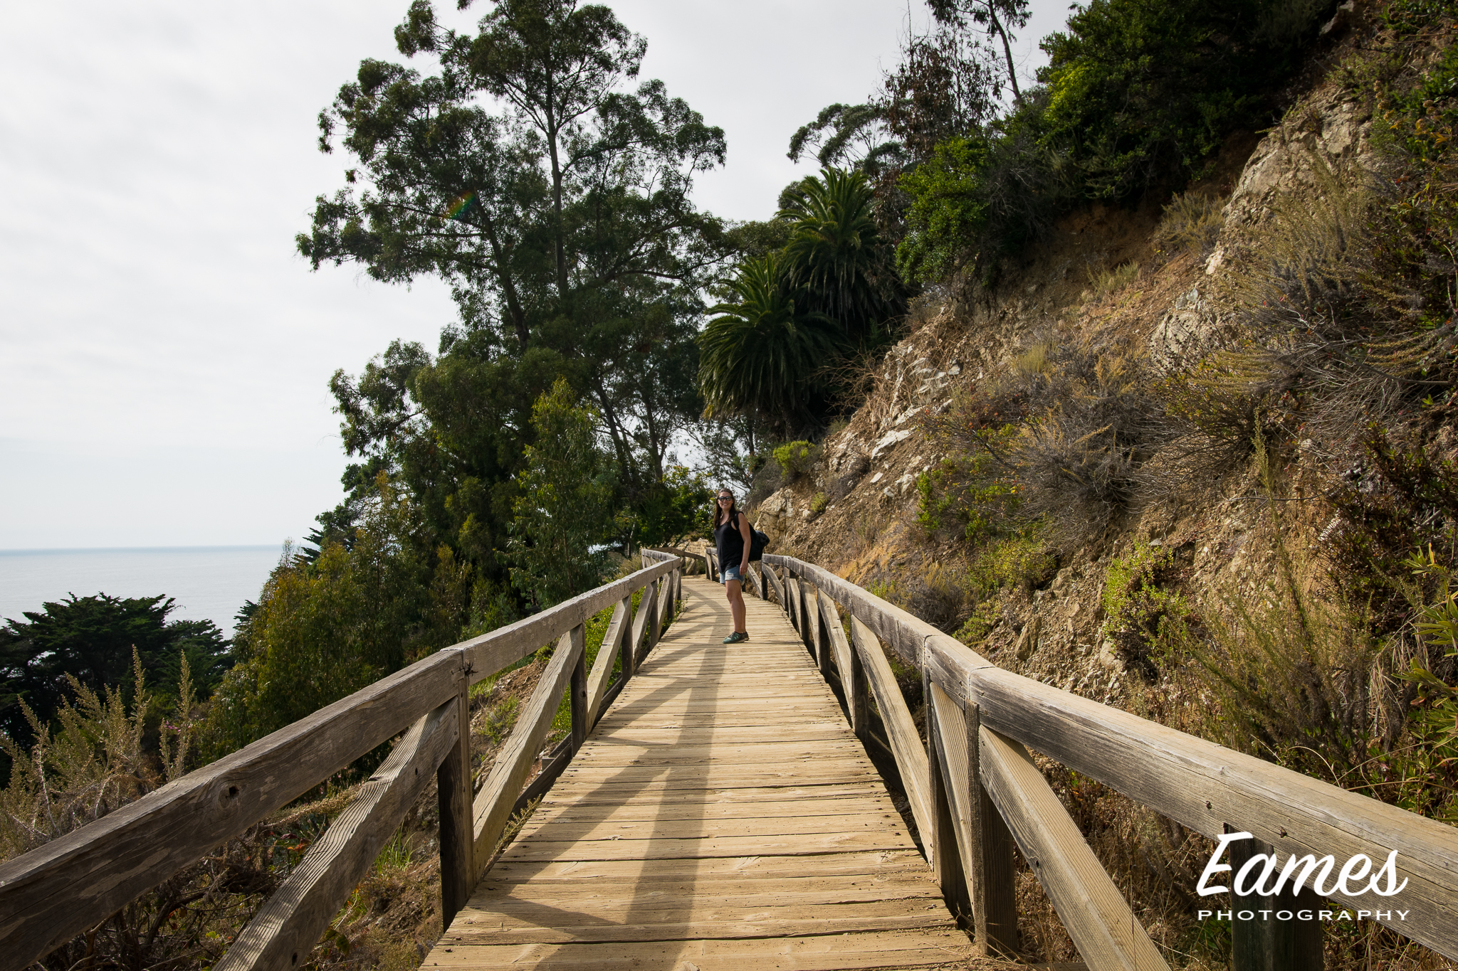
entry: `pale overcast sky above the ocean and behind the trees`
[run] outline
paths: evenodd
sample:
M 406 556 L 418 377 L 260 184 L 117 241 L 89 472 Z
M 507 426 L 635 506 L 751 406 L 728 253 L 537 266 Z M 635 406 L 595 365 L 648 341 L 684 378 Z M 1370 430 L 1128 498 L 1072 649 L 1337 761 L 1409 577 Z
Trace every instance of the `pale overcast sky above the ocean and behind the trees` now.
M 340 501 L 330 374 L 434 349 L 445 287 L 309 272 L 343 183 L 315 118 L 407 0 L 0 6 L 0 549 L 280 543 Z M 453 20 L 467 25 L 486 4 Z M 695 198 L 765 218 L 790 134 L 897 63 L 907 0 L 620 0 L 659 77 L 720 125 Z M 1034 0 L 1024 38 L 1059 29 Z

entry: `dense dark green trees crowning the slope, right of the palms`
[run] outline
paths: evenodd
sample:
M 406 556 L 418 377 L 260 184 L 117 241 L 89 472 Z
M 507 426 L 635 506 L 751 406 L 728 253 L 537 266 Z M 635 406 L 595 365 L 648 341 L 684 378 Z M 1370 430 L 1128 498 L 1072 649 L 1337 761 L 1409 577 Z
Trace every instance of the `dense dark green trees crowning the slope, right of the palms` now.
M 975 6 L 975 4 L 974 4 Z M 897 262 L 935 281 L 997 261 L 1088 199 L 1198 176 L 1299 63 L 1317 3 L 1094 0 L 1042 41 L 1042 82 L 1012 111 L 943 137 L 901 176 Z

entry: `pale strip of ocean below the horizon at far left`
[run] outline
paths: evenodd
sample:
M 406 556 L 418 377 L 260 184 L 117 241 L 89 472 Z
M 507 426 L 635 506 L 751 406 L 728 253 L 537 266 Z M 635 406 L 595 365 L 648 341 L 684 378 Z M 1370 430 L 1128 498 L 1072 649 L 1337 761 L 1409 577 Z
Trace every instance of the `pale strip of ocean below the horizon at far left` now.
M 211 620 L 233 635 L 233 616 L 258 600 L 281 546 L 0 550 L 0 617 L 25 620 L 67 594 L 176 600 L 175 620 Z

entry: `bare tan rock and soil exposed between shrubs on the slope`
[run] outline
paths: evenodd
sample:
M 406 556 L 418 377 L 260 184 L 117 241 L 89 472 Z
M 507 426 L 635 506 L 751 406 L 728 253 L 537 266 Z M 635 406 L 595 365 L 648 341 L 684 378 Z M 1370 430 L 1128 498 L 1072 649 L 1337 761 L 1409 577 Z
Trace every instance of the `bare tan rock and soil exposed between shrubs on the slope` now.
M 1353 16 L 1347 4 L 1341 17 Z M 994 291 L 949 288 L 923 297 L 910 333 L 868 376 L 866 403 L 827 437 L 814 469 L 751 511 L 771 536 L 771 552 L 814 560 L 872 590 L 901 591 L 908 607 L 917 600 L 908 590 L 920 590 L 923 600 L 955 600 L 965 544 L 917 526 L 917 477 L 943 457 L 926 434 L 927 418 L 1038 345 L 1133 341 L 1155 362 L 1207 346 L 1229 323 L 1233 297 L 1223 284 L 1252 236 L 1284 213 L 1318 205 L 1333 186 L 1379 173 L 1371 109 L 1327 80 L 1295 98 L 1266 134 L 1231 138 L 1213 170 L 1191 186 L 1191 195 L 1217 201 L 1219 231 L 1207 246 L 1162 253 L 1153 237 L 1158 211 L 1091 207 L 1064 218 Z M 1127 284 L 1091 293 L 1092 275 L 1130 262 L 1139 272 Z M 1311 494 L 1325 475 L 1317 461 L 1289 473 L 1296 492 Z M 1056 571 L 1032 588 L 1003 591 L 972 645 L 1003 667 L 1149 713 L 1147 691 L 1131 687 L 1140 681 L 1137 664 L 1104 632 L 1110 560 L 1136 544 L 1165 549 L 1168 582 L 1184 595 L 1212 601 L 1254 594 L 1268 576 L 1277 533 L 1311 544 L 1330 526 L 1330 517 L 1290 508 L 1274 527 L 1268 504 L 1254 495 L 1255 475 L 1231 476 L 1193 501 L 1145 496 L 1107 528 L 1057 549 Z M 958 629 L 971 609 L 958 603 L 948 627 Z

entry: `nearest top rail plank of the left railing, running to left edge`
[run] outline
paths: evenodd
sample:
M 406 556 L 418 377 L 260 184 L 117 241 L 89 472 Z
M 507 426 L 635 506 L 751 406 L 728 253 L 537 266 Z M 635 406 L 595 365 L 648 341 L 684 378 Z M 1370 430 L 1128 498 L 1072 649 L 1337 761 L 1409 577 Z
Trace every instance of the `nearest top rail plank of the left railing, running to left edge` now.
M 23 968 L 456 694 L 445 649 L 0 863 L 0 968 Z

